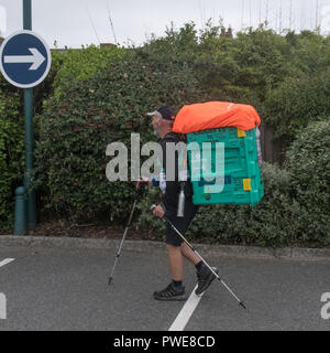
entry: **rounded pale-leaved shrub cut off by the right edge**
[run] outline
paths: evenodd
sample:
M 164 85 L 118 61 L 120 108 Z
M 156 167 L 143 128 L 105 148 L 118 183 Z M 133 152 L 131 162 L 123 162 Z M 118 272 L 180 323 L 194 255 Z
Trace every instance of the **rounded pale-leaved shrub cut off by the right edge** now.
M 286 159 L 304 238 L 330 244 L 330 119 L 301 129 Z

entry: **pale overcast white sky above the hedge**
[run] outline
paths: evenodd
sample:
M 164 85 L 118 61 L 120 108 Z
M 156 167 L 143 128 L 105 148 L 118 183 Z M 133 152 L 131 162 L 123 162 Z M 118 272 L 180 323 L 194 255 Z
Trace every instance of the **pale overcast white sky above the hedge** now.
M 23 0 L 0 0 L 0 31 L 8 36 L 23 29 Z M 318 6 L 317 6 L 318 4 Z M 292 10 L 290 10 L 292 9 Z M 268 19 L 270 26 L 330 33 L 330 0 L 32 0 L 32 29 L 54 47 L 81 44 L 143 44 L 152 33 L 161 36 L 173 21 L 175 28 L 194 21 L 197 29 L 208 19 L 234 31 L 256 26 Z

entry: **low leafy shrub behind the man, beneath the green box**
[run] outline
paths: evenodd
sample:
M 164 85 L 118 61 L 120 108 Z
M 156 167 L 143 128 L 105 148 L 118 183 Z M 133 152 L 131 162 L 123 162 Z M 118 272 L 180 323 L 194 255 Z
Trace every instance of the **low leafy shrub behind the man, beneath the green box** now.
M 298 243 L 300 205 L 290 197 L 292 179 L 286 170 L 263 164 L 265 196 L 254 207 L 249 205 L 204 205 L 193 221 L 187 236 L 194 242 L 258 246 L 288 246 Z M 140 202 L 139 226 L 154 233 L 161 221 L 148 212 L 157 201 L 150 191 Z M 160 234 L 160 238 L 162 233 Z

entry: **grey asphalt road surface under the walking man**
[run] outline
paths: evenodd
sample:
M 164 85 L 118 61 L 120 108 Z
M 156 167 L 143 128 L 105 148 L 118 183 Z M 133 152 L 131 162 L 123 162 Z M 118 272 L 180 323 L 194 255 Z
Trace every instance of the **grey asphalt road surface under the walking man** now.
M 202 254 L 201 254 L 202 255 Z M 160 302 L 154 290 L 169 282 L 167 255 L 122 250 L 112 285 L 116 248 L 1 247 L 0 293 L 7 299 L 4 330 L 167 331 L 184 302 Z M 321 330 L 321 296 L 330 292 L 330 261 L 207 257 L 244 301 L 243 310 L 215 281 L 187 321 L 187 331 Z M 188 295 L 195 268 L 185 264 Z

